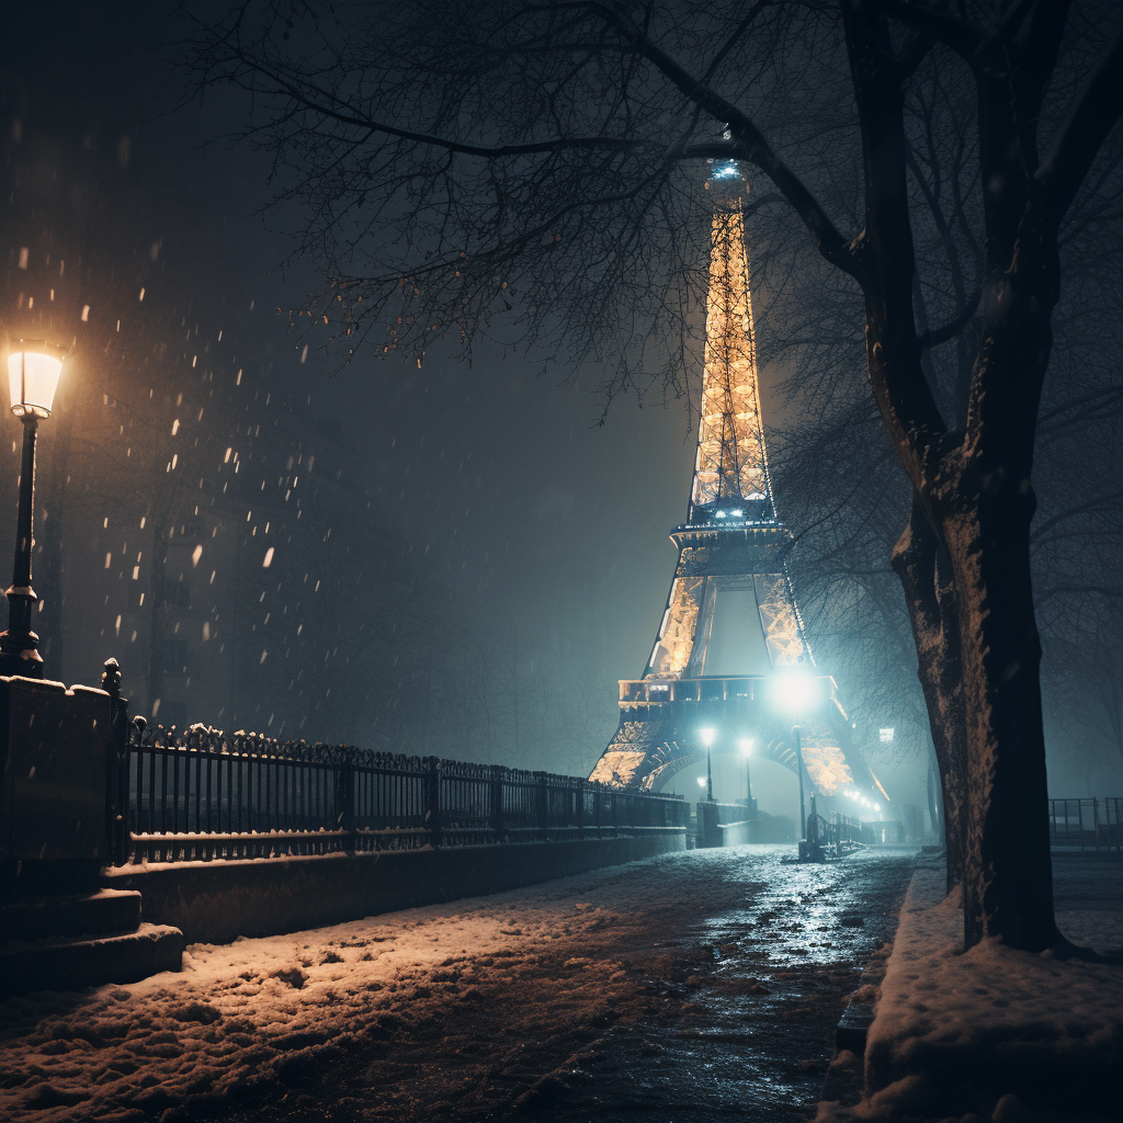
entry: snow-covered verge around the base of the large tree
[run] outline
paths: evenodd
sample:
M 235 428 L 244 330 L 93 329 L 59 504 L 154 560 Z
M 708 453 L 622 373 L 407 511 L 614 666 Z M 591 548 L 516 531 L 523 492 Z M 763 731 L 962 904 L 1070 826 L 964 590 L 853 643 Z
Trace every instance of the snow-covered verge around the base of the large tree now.
M 1108 873 L 1111 902 L 1123 865 Z M 959 893 L 944 898 L 943 889 L 942 868 L 921 868 L 905 898 L 866 1051 L 866 1088 L 879 1090 L 849 1113 L 824 1104 L 820 1120 L 969 1108 L 996 1121 L 1068 1121 L 1098 1117 L 1079 1113 L 1106 1102 L 1117 1110 L 1123 967 L 1014 951 L 996 939 L 965 953 Z M 1072 893 L 1059 900 L 1070 940 L 1123 948 L 1123 911 L 1094 897 L 1070 907 L 1081 903 Z

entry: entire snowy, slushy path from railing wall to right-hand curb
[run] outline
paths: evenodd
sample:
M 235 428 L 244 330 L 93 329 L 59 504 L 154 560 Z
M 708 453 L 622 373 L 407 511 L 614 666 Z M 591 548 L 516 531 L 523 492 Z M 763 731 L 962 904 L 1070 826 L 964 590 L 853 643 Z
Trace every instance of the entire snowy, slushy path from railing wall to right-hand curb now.
M 911 856 L 782 866 L 789 849 L 195 944 L 180 974 L 9 999 L 0 1119 L 257 1119 L 271 1095 L 271 1119 L 310 1117 L 313 1099 L 317 1119 L 375 1099 L 371 1117 L 495 1117 L 535 1097 L 603 1103 L 613 1081 L 624 1099 L 677 1097 L 676 1120 L 739 1115 L 751 1095 L 798 1119 Z

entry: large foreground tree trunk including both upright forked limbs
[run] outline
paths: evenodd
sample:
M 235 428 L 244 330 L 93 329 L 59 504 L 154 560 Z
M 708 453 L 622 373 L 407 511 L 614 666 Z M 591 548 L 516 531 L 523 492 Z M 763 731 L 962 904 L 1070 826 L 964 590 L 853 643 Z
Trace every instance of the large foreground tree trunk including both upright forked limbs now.
M 992 89 L 990 72 L 980 72 L 982 341 L 966 426 L 952 432 L 924 378 L 916 337 L 902 70 L 878 6 L 847 0 L 842 12 L 862 137 L 866 227 L 855 253 L 869 382 L 914 489 L 894 564 L 910 594 L 921 682 L 935 710 L 932 734 L 947 761 L 949 857 L 960 831 L 965 943 L 999 937 L 1040 951 L 1061 943 L 1029 550 L 1030 472 L 1060 275 L 1056 214 L 1032 167 L 1028 176 L 1019 163 L 1035 166 L 1037 158 L 1019 147 L 1008 84 Z M 956 713 L 966 768 L 958 788 L 956 739 L 946 739 Z M 957 789 L 966 791 L 966 815 Z

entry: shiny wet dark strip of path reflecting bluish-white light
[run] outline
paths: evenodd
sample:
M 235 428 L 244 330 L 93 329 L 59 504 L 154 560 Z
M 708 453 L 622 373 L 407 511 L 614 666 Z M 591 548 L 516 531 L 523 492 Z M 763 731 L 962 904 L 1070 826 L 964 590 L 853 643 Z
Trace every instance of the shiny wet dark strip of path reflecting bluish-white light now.
M 780 865 L 789 850 L 701 852 L 746 892 L 737 906 L 697 920 L 695 952 L 705 955 L 695 953 L 693 974 L 674 988 L 690 1002 L 691 1024 L 652 1029 L 654 1046 L 651 1033 L 613 1033 L 612 1048 L 573 1074 L 551 1120 L 806 1117 L 846 997 L 895 925 L 913 851 Z

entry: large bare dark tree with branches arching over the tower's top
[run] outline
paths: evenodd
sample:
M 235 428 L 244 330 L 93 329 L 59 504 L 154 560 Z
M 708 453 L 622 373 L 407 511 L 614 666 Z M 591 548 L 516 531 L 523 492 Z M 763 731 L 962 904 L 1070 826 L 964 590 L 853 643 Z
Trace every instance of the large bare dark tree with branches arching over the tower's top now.
M 967 942 L 1060 947 L 1030 477 L 1063 223 L 1116 198 L 1115 155 L 1097 162 L 1123 111 L 1114 8 L 404 8 L 247 4 L 197 40 L 200 80 L 253 91 L 250 134 L 308 207 L 302 248 L 331 281 L 312 322 L 348 350 L 385 331 L 385 355 L 419 359 L 450 327 L 466 345 L 521 337 L 603 362 L 609 396 L 660 380 L 678 391 L 704 289 L 699 161 L 756 167 L 769 189 L 755 207 L 798 222 L 860 301 L 869 385 L 912 489 L 894 567 L 948 818 L 964 824 Z M 959 236 L 977 244 L 979 289 L 960 296 L 951 277 L 953 316 L 928 330 L 976 319 L 955 409 L 917 329 L 917 231 L 931 223 L 906 127 L 911 92 L 937 70 L 938 108 L 966 99 L 975 135 Z

